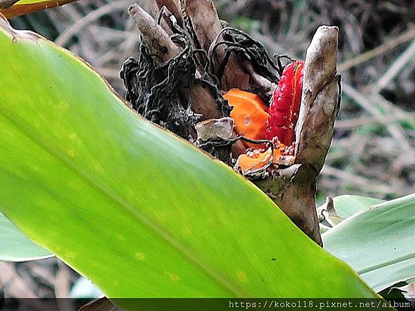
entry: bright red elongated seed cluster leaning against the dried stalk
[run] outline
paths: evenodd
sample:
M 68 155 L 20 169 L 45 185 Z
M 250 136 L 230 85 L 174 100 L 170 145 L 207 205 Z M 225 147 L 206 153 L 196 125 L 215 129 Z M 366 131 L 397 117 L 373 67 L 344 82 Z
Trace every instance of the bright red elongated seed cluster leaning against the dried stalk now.
M 304 62 L 288 64 L 279 79 L 271 100 L 266 121 L 266 139 L 278 138 L 279 142 L 291 145 L 295 140 L 299 105 L 301 104 Z

